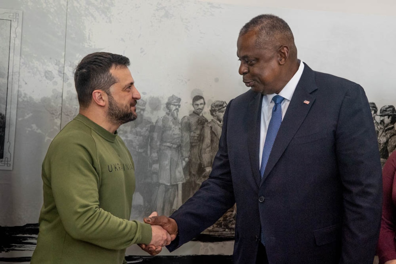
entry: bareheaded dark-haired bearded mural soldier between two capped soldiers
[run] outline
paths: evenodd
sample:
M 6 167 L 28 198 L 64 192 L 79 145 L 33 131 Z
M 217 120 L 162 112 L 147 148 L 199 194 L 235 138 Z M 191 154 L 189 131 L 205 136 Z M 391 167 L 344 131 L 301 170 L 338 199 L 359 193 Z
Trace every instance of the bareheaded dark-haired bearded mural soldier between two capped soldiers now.
M 186 182 L 183 184 L 182 202 L 190 198 L 201 186 L 204 167 L 200 160 L 199 143 L 203 127 L 208 120 L 202 115 L 205 99 L 201 95 L 192 98 L 194 111 L 181 119 L 181 155 L 185 163 Z M 208 153 L 208 155 L 210 155 Z

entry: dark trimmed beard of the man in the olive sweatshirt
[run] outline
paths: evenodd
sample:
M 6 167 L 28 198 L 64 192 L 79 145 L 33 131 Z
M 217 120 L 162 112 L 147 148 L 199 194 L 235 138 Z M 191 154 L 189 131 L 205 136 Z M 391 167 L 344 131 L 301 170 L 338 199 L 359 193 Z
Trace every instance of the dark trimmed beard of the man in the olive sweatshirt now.
M 114 97 L 109 94 L 109 109 L 107 110 L 107 117 L 109 118 L 110 122 L 116 125 L 122 125 L 133 121 L 136 119 L 137 114 L 132 112 L 131 107 L 134 106 L 135 103 L 129 104 L 129 106 L 118 104 Z

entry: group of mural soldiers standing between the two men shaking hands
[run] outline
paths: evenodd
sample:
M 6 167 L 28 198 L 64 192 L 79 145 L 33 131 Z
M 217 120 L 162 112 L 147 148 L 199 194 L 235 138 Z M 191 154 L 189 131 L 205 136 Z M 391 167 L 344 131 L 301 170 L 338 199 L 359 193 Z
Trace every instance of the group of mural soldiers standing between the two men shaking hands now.
M 135 163 L 136 190 L 141 203 L 133 207 L 131 219 L 142 218 L 156 211 L 171 215 L 190 198 L 208 179 L 213 159 L 218 150 L 223 116 L 227 103 L 213 101 L 209 121 L 203 110 L 202 95 L 192 99 L 192 113 L 179 118 L 181 98 L 168 97 L 161 103 L 149 97 L 137 102 L 138 118 L 118 129 Z M 154 102 L 155 101 L 155 102 Z M 165 105 L 166 113 L 155 124 L 146 113 L 146 107 Z M 233 239 L 236 205 L 230 208 L 213 226 L 204 230 L 206 236 L 197 239 Z M 214 239 L 214 238 L 213 238 Z

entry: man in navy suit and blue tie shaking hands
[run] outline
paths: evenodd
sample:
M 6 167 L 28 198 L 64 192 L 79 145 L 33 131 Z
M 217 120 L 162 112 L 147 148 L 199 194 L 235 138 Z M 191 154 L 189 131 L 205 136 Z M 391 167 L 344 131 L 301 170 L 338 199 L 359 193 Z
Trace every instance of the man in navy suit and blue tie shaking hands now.
M 274 15 L 249 21 L 237 48 L 251 89 L 228 103 L 209 179 L 170 218 L 145 221 L 173 251 L 236 202 L 233 263 L 372 264 L 381 163 L 363 88 L 297 59 Z

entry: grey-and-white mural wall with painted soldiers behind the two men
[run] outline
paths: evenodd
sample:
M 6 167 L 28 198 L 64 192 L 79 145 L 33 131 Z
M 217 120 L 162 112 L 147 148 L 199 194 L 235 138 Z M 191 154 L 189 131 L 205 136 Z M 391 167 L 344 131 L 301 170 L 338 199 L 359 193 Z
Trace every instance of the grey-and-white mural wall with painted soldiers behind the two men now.
M 141 93 L 139 117 L 118 130 L 136 167 L 131 219 L 152 211 L 170 215 L 209 176 L 225 107 L 247 89 L 238 74 L 238 32 L 260 13 L 289 23 L 298 57 L 312 69 L 364 87 L 381 159 L 387 159 L 396 146 L 396 54 L 384 43 L 396 41 L 389 34 L 396 18 L 259 2 L 0 2 L 0 263 L 30 261 L 43 201 L 41 163 L 53 137 L 78 113 L 74 68 L 95 51 L 129 57 Z M 126 259 L 230 263 L 237 211 L 234 205 L 172 253 L 151 257 L 133 245 Z

